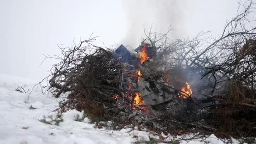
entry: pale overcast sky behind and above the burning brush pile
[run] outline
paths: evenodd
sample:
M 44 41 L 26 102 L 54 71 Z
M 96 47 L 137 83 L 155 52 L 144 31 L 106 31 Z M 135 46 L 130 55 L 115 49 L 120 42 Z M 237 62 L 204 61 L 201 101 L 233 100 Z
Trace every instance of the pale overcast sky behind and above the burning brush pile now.
M 58 55 L 93 32 L 97 45 L 139 45 L 143 26 L 172 38 L 221 32 L 238 0 L 0 0 L 0 73 L 41 80 Z

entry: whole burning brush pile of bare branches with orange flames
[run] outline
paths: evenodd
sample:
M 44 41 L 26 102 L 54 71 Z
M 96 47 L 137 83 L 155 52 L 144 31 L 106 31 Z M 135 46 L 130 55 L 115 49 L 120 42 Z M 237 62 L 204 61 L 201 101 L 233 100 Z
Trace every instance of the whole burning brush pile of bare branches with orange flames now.
M 84 110 L 113 129 L 256 136 L 256 27 L 245 27 L 252 3 L 241 8 L 217 39 L 168 43 L 150 29 L 137 56 L 93 38 L 61 48 L 49 75 L 55 97 L 67 95 L 59 112 Z

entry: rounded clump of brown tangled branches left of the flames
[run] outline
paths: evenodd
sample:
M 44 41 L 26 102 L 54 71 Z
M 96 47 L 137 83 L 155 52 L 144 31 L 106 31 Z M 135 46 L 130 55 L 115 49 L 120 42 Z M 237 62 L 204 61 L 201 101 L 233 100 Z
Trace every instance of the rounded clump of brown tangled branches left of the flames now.
M 62 109 L 73 107 L 103 116 L 106 107 L 112 107 L 115 94 L 123 92 L 123 64 L 114 59 L 111 50 L 93 45 L 93 39 L 82 41 L 74 48 L 61 49 L 61 62 L 54 65 L 49 80 L 51 88 L 61 93 L 69 92 L 69 100 Z M 109 113 L 108 113 L 109 115 Z

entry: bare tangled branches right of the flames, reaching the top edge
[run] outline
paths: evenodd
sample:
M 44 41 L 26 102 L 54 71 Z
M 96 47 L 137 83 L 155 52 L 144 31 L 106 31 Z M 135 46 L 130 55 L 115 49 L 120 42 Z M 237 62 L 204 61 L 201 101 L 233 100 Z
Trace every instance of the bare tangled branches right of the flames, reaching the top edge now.
M 147 34 L 149 42 L 157 46 L 170 83 L 189 81 L 194 86 L 192 98 L 211 99 L 211 104 L 202 109 L 210 113 L 208 124 L 222 134 L 255 136 L 256 20 L 251 17 L 253 5 L 251 0 L 240 4 L 236 16 L 227 21 L 217 38 L 206 37 L 209 32 L 200 32 L 195 38 L 168 43 L 166 34 L 157 35 L 151 30 Z M 198 79 L 193 79 L 197 75 Z M 177 88 L 177 84 L 173 85 Z

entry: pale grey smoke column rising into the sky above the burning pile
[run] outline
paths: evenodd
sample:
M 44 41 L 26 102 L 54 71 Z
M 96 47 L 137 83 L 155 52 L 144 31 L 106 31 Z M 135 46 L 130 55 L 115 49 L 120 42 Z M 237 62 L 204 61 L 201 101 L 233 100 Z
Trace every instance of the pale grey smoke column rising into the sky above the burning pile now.
M 153 27 L 153 32 L 165 33 L 171 26 L 173 30 L 169 38 L 180 37 L 184 31 L 182 29 L 177 31 L 177 28 L 183 24 L 182 6 L 185 5 L 184 2 L 180 0 L 124 0 L 123 8 L 128 19 L 128 30 L 121 43 L 133 48 L 138 46 L 142 37 L 146 37 L 144 27 L 146 32 Z

